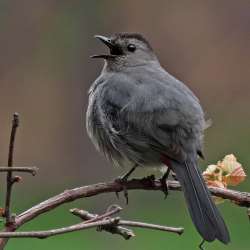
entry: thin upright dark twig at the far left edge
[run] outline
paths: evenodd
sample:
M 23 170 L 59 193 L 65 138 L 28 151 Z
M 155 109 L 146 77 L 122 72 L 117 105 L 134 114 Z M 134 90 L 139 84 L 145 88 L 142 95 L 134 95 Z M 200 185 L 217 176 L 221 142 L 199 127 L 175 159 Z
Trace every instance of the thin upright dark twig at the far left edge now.
M 12 129 L 10 134 L 10 144 L 9 144 L 9 155 L 8 155 L 9 168 L 13 166 L 14 144 L 15 144 L 16 130 L 18 125 L 19 125 L 19 115 L 17 113 L 14 113 L 12 120 Z M 12 177 L 12 172 L 7 173 L 6 181 L 7 181 L 7 187 L 6 187 L 4 216 L 6 217 L 6 225 L 8 226 L 13 222 L 12 215 L 10 213 L 10 201 L 11 201 L 11 190 L 13 183 L 15 182 L 15 178 Z

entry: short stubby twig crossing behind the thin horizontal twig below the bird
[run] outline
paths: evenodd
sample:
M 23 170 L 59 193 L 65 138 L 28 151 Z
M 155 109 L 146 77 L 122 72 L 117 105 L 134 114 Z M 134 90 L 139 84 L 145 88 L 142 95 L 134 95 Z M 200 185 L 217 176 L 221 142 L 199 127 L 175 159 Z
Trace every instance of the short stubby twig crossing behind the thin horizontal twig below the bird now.
M 114 211 L 114 209 L 112 209 L 111 211 Z M 100 217 L 96 214 L 91 214 L 88 211 L 81 210 L 78 208 L 70 209 L 70 212 L 85 221 L 97 219 Z M 117 225 L 103 226 L 103 227 L 100 227 L 98 231 L 102 231 L 102 230 L 105 230 L 106 232 L 109 232 L 112 234 L 121 235 L 125 240 L 128 240 L 131 237 L 135 236 L 132 230 L 125 228 L 125 227 L 117 226 Z

